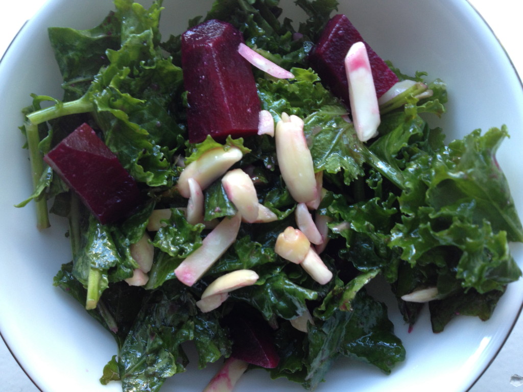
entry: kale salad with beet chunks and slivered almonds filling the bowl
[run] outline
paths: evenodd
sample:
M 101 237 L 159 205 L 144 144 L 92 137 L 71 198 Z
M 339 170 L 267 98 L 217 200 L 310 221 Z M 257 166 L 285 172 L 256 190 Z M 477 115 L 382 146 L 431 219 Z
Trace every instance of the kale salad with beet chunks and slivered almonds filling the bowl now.
M 113 5 L 48 29 L 64 94 L 23 110 L 17 204 L 42 233 L 67 222 L 53 282 L 116 340 L 101 384 L 161 390 L 189 362 L 208 391 L 259 369 L 275 388 L 393 377 L 405 334 L 491 318 L 521 276 L 505 125 L 446 140 L 447 81 L 336 2 L 219 0 L 168 35 L 173 5 Z

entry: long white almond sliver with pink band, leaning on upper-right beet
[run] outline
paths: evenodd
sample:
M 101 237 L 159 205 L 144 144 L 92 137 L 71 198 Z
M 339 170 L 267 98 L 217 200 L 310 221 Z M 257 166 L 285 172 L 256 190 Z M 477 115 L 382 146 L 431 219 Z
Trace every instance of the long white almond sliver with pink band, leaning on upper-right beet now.
M 358 139 L 366 142 L 377 135 L 380 125 L 378 97 L 365 43 L 354 43 L 345 56 L 350 110 Z

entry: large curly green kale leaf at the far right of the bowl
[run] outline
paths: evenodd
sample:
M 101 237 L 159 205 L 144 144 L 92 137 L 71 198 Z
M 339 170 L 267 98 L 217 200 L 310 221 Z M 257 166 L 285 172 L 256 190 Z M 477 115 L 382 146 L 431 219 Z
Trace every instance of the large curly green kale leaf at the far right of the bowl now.
M 428 250 L 454 247 L 461 255 L 452 266 L 457 278 L 463 287 L 480 293 L 503 290 L 519 278 L 507 234 L 513 240 L 521 238 L 521 226 L 494 158 L 503 135 L 497 129 L 483 136 L 475 131 L 451 143 L 459 151 L 449 146 L 411 160 L 405 170 L 410 189 L 399 197 L 402 222 L 391 237 L 391 246 L 402 249 L 402 259 L 423 263 Z

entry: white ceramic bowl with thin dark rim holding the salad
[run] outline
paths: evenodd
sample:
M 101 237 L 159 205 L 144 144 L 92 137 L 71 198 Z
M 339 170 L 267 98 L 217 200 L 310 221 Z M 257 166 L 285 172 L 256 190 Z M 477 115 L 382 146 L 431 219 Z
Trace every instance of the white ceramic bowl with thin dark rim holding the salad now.
M 176 4 L 184 3 L 180 7 Z M 288 2 L 290 3 L 290 2 Z M 511 139 L 498 161 L 523 211 L 523 90 L 501 45 L 484 21 L 464 0 L 347 0 L 346 13 L 370 45 L 405 73 L 427 71 L 448 84 L 448 113 L 441 125 L 449 139 L 476 129 L 507 124 Z M 285 3 L 284 3 L 285 4 Z M 165 0 L 164 34 L 179 33 L 189 17 L 204 15 L 210 1 Z M 52 286 L 60 264 L 70 260 L 65 224 L 38 232 L 33 205 L 13 207 L 31 193 L 27 154 L 18 126 L 20 108 L 29 105 L 30 93 L 61 96 L 60 75 L 47 41 L 49 26 L 89 28 L 112 8 L 108 0 L 50 0 L 21 30 L 0 63 L 0 331 L 20 365 L 44 392 L 115 392 L 118 383 L 99 384 L 101 370 L 116 344 L 72 298 Z M 499 86 L 503 86 L 500 88 Z M 520 266 L 523 248 L 513 247 Z M 520 311 L 523 283 L 510 284 L 491 320 L 454 319 L 444 332 L 430 331 L 428 315 L 407 333 L 392 303 L 389 307 L 396 334 L 407 350 L 406 361 L 390 376 L 360 363 L 342 361 L 318 390 L 463 391 L 480 376 L 503 344 Z M 198 391 L 216 370 L 198 372 L 193 365 L 176 375 L 163 390 Z M 270 381 L 264 371 L 246 374 L 238 391 L 301 391 L 285 380 Z

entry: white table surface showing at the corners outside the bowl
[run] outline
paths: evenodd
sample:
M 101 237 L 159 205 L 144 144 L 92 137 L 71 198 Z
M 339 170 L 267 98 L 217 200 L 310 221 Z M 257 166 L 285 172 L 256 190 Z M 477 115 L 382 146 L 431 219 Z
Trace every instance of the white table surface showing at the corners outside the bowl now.
M 21 0 L 5 6 L 0 12 L 0 55 L 3 54 L 17 31 L 46 0 Z M 523 77 L 523 30 L 520 19 L 521 0 L 470 0 L 491 26 L 511 57 L 519 75 Z M 523 108 L 522 108 L 523 110 Z M 1 315 L 0 315 L 1 317 Z M 523 377 L 523 316 L 519 320 L 483 376 L 470 392 L 517 392 L 517 375 Z M 523 382 L 522 382 L 523 383 Z M 38 392 L 39 389 L 18 366 L 3 340 L 0 339 L 0 389 L 5 392 Z M 521 388 L 523 392 L 523 388 Z

